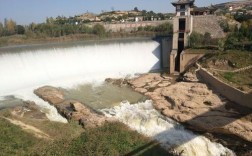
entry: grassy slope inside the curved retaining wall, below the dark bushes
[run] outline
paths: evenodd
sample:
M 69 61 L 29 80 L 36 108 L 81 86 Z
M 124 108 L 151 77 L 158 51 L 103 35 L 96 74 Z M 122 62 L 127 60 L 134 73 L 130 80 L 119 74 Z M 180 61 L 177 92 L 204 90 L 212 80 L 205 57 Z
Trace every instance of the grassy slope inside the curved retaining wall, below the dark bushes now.
M 228 64 L 215 66 L 213 62 L 228 60 Z M 235 70 L 252 65 L 252 53 L 247 51 L 225 51 L 208 53 L 200 61 L 204 68 Z M 217 77 L 242 91 L 252 90 L 252 69 L 238 73 L 215 71 Z

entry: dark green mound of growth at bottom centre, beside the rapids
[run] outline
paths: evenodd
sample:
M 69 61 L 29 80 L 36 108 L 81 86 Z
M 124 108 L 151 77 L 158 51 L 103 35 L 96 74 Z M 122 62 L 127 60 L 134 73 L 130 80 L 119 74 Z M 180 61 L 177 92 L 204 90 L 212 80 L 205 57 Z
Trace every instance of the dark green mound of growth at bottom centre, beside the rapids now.
M 37 150 L 33 154 L 66 156 L 169 155 L 158 143 L 130 130 L 121 123 L 107 123 L 102 127 L 86 130 L 70 142 L 66 142 L 64 139 L 57 140 L 49 147 Z

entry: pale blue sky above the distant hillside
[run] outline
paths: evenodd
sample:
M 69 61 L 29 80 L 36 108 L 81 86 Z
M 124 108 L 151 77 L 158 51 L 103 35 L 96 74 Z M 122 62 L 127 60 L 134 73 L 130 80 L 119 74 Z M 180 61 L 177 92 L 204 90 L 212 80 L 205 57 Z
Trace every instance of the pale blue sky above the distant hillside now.
M 86 12 L 101 13 L 114 10 L 153 10 L 171 13 L 174 0 L 0 0 L 0 22 L 12 19 L 17 24 L 45 22 L 46 17 L 74 16 Z M 175 0 L 176 1 L 176 0 Z M 196 0 L 196 6 L 209 6 L 231 0 Z

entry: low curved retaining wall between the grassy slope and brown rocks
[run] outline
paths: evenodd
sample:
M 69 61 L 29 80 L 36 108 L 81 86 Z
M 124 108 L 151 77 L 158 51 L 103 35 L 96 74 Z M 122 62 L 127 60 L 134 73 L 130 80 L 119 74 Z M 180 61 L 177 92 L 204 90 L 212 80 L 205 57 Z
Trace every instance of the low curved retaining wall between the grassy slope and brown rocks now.
M 214 89 L 216 89 L 216 91 L 225 96 L 227 99 L 245 107 L 252 108 L 252 93 L 244 93 L 236 88 L 229 86 L 228 84 L 215 78 L 204 68 L 201 68 L 197 73 L 203 78 L 206 83 L 211 85 Z

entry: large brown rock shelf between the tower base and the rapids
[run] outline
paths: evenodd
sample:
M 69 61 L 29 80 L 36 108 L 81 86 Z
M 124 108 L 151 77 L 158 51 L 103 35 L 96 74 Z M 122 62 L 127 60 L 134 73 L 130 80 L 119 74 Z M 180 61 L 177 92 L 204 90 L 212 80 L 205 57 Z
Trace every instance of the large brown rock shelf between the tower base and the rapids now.
M 196 131 L 231 134 L 252 142 L 251 110 L 237 106 L 187 73 L 187 82 L 171 83 L 170 77 L 146 74 L 128 83 L 153 100 L 162 114 Z

